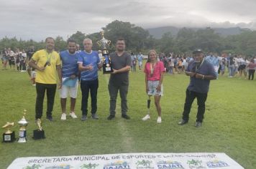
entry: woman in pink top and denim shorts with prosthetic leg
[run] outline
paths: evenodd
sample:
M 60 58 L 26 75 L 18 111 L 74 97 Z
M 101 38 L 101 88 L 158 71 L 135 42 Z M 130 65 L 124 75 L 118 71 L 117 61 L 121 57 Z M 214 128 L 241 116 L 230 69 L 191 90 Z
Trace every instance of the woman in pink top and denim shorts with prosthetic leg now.
M 157 61 L 157 52 L 155 50 L 150 50 L 148 53 L 148 60 L 145 64 L 145 84 L 146 92 L 149 96 L 147 100 L 147 108 L 150 109 L 150 96 L 154 96 L 155 107 L 157 108 L 157 123 L 161 123 L 161 107 L 160 107 L 160 98 L 163 95 L 163 74 L 165 72 L 165 67 L 163 62 Z M 142 120 L 150 119 L 150 111 L 148 114 L 142 118 Z

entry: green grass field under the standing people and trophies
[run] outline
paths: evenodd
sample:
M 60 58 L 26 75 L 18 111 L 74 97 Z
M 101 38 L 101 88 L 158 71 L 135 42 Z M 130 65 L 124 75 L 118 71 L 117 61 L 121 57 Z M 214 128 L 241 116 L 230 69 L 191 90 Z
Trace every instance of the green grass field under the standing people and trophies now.
M 27 73 L 14 70 L 0 71 L 0 125 L 15 122 L 12 128 L 18 137 L 17 122 L 27 109 L 28 140 L 25 144 L 0 143 L 0 168 L 12 160 L 27 156 L 93 155 L 107 153 L 227 153 L 244 168 L 256 168 L 256 82 L 219 77 L 211 82 L 203 126 L 194 127 L 196 102 L 187 125 L 178 126 L 189 78 L 184 74 L 164 77 L 164 96 L 161 100 L 163 122 L 157 124 L 157 112 L 152 104 L 152 118 L 142 122 L 147 113 L 147 95 L 143 72 L 129 75 L 128 114 L 131 120 L 121 118 L 120 99 L 115 120 L 109 115 L 109 75 L 99 72 L 99 120 L 81 122 L 81 91 L 76 105 L 77 120 L 60 120 L 60 99 L 55 96 L 54 122 L 42 117 L 45 140 L 32 140 L 35 125 L 35 87 Z M 69 108 L 68 100 L 68 108 Z M 44 104 L 46 106 L 46 102 Z M 89 106 L 90 108 L 90 106 Z M 44 110 L 46 110 L 44 108 Z M 4 130 L 1 130 L 3 133 Z

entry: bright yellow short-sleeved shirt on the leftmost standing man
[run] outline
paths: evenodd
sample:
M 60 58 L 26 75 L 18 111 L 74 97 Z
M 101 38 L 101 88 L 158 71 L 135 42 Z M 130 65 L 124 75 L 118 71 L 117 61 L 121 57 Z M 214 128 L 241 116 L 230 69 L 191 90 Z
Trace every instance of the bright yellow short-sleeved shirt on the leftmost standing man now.
M 38 67 L 44 67 L 47 60 L 50 61 L 50 65 L 45 67 L 44 71 L 38 71 L 35 77 L 35 82 L 43 84 L 57 84 L 57 69 L 56 66 L 60 65 L 60 55 L 52 51 L 48 54 L 45 49 L 39 50 L 33 54 L 32 59 L 37 62 Z

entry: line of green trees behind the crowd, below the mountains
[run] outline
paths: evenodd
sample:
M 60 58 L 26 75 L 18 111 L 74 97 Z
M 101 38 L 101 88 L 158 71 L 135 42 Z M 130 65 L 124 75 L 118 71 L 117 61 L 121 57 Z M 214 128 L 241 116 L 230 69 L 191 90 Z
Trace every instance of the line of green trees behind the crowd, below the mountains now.
M 156 49 L 157 52 L 168 54 L 190 53 L 194 49 L 202 49 L 204 52 L 222 52 L 232 54 L 243 54 L 247 56 L 255 56 L 256 54 L 256 31 L 243 30 L 241 34 L 229 35 L 227 37 L 220 36 L 214 29 L 207 27 L 206 29 L 193 30 L 182 28 L 177 36 L 173 36 L 170 32 L 163 34 L 161 39 L 155 39 L 150 33 L 140 26 L 131 24 L 125 21 L 112 21 L 104 28 L 104 37 L 111 40 L 109 51 L 114 51 L 114 43 L 120 37 L 123 37 L 127 44 L 127 50 L 130 52 L 147 53 L 149 49 Z M 93 34 L 85 34 L 77 31 L 69 38 L 75 39 L 83 49 L 83 39 L 90 38 L 93 40 L 93 49 L 100 49 L 96 44 L 101 39 L 100 32 Z M 33 39 L 22 40 L 16 37 L 4 37 L 0 40 L 0 51 L 6 47 L 11 47 L 12 50 L 27 49 L 29 46 L 35 46 L 35 49 L 43 49 L 44 41 L 35 42 Z M 62 51 L 66 49 L 66 42 L 63 37 L 55 38 L 55 49 Z

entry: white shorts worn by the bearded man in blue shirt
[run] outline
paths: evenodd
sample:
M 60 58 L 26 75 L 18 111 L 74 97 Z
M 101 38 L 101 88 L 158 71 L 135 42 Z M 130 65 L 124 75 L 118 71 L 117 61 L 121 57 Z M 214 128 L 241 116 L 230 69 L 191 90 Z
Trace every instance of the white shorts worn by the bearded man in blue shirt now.
M 64 80 L 65 78 L 63 78 Z M 60 98 L 65 99 L 68 97 L 68 94 L 72 98 L 76 98 L 78 95 L 78 81 L 76 82 L 75 87 L 68 87 L 63 85 L 60 89 Z

